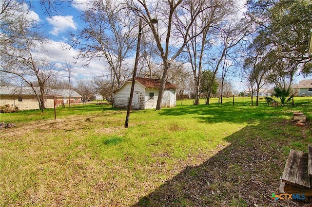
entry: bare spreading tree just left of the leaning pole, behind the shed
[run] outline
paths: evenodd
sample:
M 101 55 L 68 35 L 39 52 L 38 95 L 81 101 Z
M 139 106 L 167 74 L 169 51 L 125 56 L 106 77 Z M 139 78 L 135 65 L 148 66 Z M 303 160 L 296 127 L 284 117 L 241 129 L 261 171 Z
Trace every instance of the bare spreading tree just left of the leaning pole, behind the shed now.
M 82 15 L 86 27 L 73 35 L 73 46 L 79 49 L 78 58 L 104 58 L 109 65 L 114 87 L 121 86 L 124 60 L 133 48 L 133 18 L 130 11 L 121 9 L 111 0 L 91 1 L 89 9 Z M 102 70 L 104 70 L 103 68 Z

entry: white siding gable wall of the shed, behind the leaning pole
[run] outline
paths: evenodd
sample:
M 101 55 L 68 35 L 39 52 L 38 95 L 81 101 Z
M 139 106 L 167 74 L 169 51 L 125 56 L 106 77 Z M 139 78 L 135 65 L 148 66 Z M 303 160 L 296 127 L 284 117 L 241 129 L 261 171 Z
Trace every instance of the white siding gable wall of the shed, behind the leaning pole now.
M 127 108 L 131 90 L 131 82 L 125 83 L 119 90 L 114 92 L 114 102 L 117 108 Z M 132 109 L 144 109 L 145 87 L 136 82 L 132 98 Z M 138 103 L 136 103 L 138 101 Z

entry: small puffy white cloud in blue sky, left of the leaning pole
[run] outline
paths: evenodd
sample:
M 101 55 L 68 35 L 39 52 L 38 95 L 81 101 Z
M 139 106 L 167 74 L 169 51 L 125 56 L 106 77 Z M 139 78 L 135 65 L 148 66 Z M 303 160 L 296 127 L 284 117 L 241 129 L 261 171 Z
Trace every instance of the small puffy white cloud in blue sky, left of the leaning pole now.
M 50 32 L 52 35 L 59 35 L 59 32 L 63 32 L 67 28 L 77 29 L 73 16 L 47 17 L 46 20 L 54 26 L 53 31 Z

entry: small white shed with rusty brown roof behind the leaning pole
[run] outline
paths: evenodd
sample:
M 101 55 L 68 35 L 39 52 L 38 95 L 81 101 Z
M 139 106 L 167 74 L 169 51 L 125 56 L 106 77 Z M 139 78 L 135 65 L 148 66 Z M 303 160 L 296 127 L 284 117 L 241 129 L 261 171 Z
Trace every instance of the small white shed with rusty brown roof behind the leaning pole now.
M 133 109 L 153 109 L 156 108 L 160 79 L 136 78 L 135 88 L 131 108 Z M 117 108 L 127 108 L 132 80 L 126 81 L 114 92 L 114 104 Z M 162 99 L 162 107 L 176 106 L 176 87 L 166 82 L 165 91 Z

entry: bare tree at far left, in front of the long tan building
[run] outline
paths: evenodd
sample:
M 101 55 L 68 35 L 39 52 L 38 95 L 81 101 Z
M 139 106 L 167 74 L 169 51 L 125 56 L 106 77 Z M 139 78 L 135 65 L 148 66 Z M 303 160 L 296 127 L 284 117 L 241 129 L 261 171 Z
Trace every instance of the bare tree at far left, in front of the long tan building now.
M 6 8 L 2 7 L 0 15 L 0 71 L 17 76 L 31 86 L 43 112 L 46 82 L 57 74 L 58 69 L 44 55 L 42 46 L 47 44 L 47 39 L 38 32 L 38 19 L 29 15 L 29 7 L 15 1 L 4 3 Z

